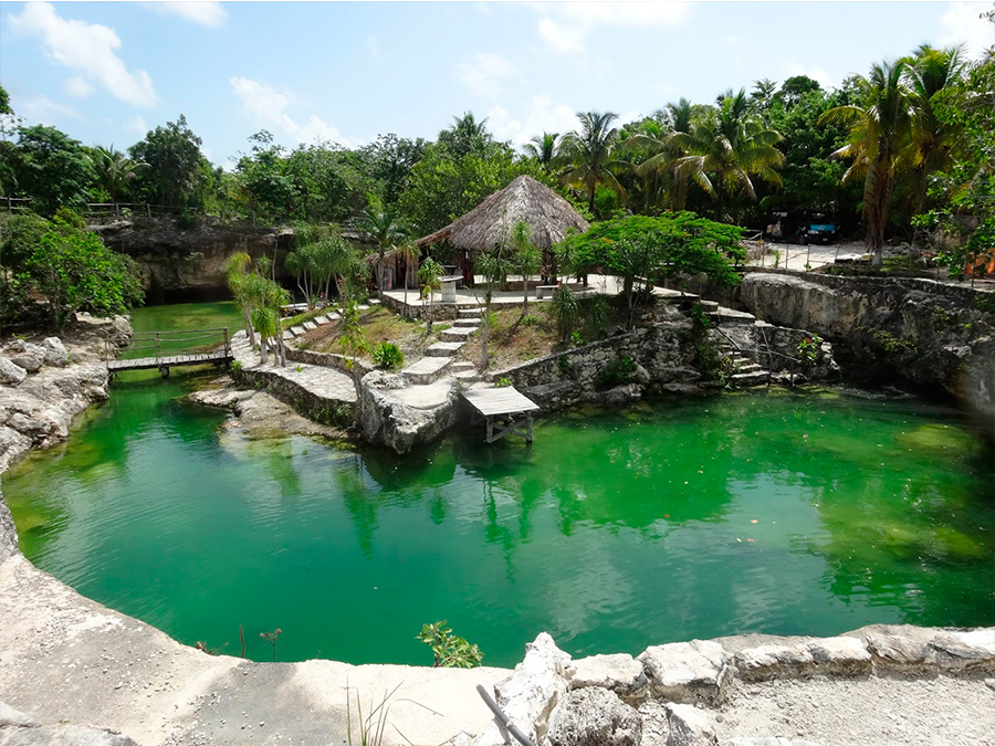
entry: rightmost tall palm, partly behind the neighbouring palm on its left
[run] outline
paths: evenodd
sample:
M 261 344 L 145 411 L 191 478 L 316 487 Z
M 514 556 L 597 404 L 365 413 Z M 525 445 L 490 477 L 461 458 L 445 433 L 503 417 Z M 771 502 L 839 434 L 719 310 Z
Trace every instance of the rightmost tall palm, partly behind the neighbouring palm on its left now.
M 951 132 L 933 112 L 933 96 L 951 83 L 960 80 L 964 70 L 963 48 L 949 46 L 935 50 L 923 44 L 914 56 L 907 60 L 905 81 L 912 105 L 912 166 L 913 213 L 925 209 L 928 176 L 944 171 L 951 165 L 951 146 L 955 133 Z

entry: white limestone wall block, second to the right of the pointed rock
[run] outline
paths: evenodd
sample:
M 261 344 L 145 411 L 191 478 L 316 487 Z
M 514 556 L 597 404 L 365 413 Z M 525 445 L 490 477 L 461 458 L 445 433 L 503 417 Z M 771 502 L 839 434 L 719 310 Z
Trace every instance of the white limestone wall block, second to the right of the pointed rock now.
M 671 702 L 714 704 L 729 675 L 729 653 L 718 642 L 692 640 L 647 648 L 639 660 L 650 689 Z

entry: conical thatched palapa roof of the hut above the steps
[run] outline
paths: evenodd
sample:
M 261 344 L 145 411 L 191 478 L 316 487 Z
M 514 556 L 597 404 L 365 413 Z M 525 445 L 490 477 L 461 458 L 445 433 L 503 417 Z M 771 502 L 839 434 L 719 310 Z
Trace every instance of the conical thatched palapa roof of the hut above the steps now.
M 427 246 L 449 241 L 457 249 L 485 250 L 511 240 L 512 228 L 523 221 L 532 229 L 532 242 L 545 251 L 570 229 L 590 225 L 563 197 L 531 176 L 520 176 L 484 199 L 462 218 L 415 243 Z

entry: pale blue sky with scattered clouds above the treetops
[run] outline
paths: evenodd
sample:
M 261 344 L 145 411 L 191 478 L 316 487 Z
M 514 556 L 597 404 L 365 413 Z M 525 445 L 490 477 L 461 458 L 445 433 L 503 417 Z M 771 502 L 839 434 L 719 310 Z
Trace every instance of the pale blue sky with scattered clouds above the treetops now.
M 0 2 L 0 84 L 29 124 L 127 147 L 185 114 L 218 165 L 434 138 L 489 117 L 516 144 L 577 111 L 624 120 L 808 74 L 838 85 L 918 44 L 995 43 L 992 2 Z

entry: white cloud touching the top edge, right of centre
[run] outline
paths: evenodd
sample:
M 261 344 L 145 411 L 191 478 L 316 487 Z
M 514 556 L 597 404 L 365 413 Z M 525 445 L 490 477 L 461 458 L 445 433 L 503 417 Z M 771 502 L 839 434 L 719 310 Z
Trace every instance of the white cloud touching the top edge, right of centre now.
M 678 0 L 543 3 L 536 6 L 543 14 L 538 34 L 557 54 L 576 54 L 596 29 L 675 27 L 687 20 L 689 8 Z

